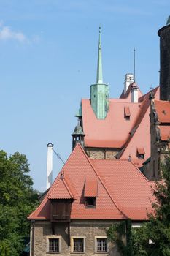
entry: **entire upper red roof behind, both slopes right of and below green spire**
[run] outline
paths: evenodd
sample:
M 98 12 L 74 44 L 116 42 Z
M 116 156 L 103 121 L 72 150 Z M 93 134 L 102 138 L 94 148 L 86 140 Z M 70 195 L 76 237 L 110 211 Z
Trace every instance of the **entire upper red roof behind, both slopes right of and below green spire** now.
M 109 111 L 104 120 L 97 119 L 89 99 L 82 99 L 82 123 L 85 132 L 85 146 L 98 148 L 122 148 L 117 158 L 131 159 L 138 167 L 142 161 L 136 158 L 136 147 L 144 148 L 144 158 L 150 157 L 150 100 L 149 94 L 139 98 L 139 103 L 125 102 L 124 99 L 109 99 Z M 159 99 L 159 87 L 153 89 Z M 131 113 L 125 118 L 125 108 Z M 141 139 L 142 138 L 142 139 Z

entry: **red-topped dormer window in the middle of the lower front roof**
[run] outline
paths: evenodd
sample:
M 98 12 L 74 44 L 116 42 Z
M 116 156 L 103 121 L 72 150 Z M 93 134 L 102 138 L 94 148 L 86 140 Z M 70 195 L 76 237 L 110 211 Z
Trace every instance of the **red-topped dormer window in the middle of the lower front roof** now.
M 85 181 L 85 207 L 94 208 L 96 207 L 96 197 L 98 194 L 98 181 Z

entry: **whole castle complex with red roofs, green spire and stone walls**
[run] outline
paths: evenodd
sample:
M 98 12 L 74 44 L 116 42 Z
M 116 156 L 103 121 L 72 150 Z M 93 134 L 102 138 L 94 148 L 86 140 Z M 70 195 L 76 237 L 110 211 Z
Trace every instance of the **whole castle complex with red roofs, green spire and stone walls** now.
M 159 88 L 142 95 L 134 75 L 125 75 L 120 99 L 109 99 L 103 82 L 101 31 L 96 84 L 82 99 L 72 133 L 73 151 L 31 221 L 31 256 L 119 255 L 107 239 L 114 222 L 140 227 L 152 211 L 151 186 L 169 151 L 170 24 L 161 39 Z M 150 139 L 151 138 L 151 139 Z M 139 170 L 143 166 L 144 175 Z

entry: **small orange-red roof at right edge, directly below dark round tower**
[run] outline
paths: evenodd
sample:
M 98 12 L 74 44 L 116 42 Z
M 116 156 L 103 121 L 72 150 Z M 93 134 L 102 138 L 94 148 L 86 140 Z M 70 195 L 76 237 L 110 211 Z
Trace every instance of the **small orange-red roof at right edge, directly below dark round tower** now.
M 170 123 L 170 102 L 163 100 L 155 100 L 155 110 L 158 114 L 160 124 Z

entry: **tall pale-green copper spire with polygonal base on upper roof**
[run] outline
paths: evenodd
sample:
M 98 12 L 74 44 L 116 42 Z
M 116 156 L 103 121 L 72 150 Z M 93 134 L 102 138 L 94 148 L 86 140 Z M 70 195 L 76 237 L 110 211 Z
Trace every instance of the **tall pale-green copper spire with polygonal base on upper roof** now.
M 109 110 L 109 86 L 103 83 L 101 59 L 101 27 L 99 27 L 98 64 L 96 83 L 90 86 L 90 101 L 96 118 L 104 119 Z

